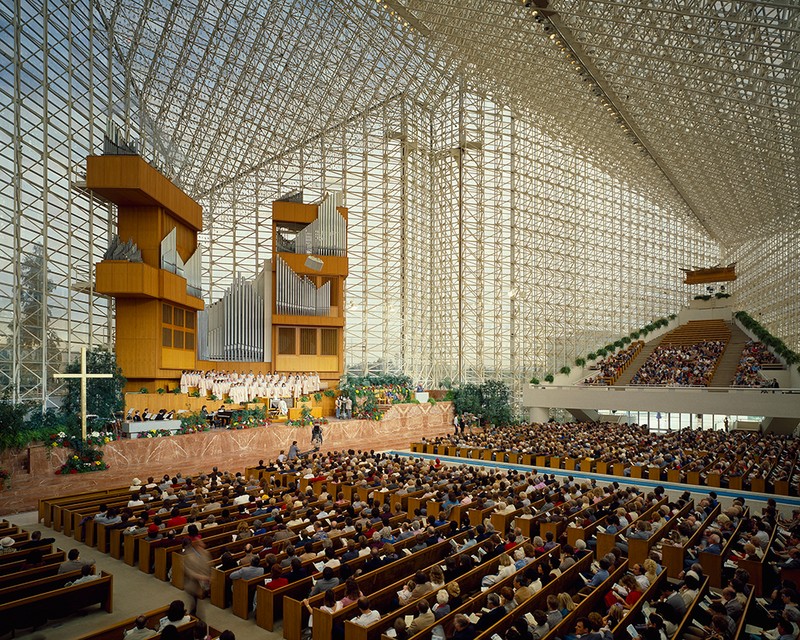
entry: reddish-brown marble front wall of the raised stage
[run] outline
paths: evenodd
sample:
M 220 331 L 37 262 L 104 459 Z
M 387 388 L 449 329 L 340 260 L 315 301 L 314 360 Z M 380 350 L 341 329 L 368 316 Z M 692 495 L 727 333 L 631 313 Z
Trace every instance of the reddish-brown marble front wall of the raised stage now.
M 331 420 L 323 425 L 323 450 L 407 449 L 423 436 L 433 438 L 452 431 L 450 402 L 392 406 L 379 422 Z M 118 440 L 104 447 L 107 471 L 55 475 L 72 454 L 71 449 L 30 447 L 17 454 L 5 453 L 0 466 L 12 472 L 11 489 L 0 491 L 0 515 L 31 511 L 40 497 L 64 495 L 129 484 L 134 477 L 160 477 L 165 473 L 196 474 L 217 466 L 244 471 L 260 458 L 269 459 L 297 440 L 301 451 L 311 449 L 311 429 L 274 424 L 243 430 L 214 430 L 166 438 Z

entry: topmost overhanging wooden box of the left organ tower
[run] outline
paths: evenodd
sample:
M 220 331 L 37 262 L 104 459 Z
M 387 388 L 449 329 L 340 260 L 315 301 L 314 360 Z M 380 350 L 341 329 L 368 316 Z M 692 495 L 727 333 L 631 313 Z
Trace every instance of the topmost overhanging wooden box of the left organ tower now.
M 139 156 L 89 156 L 86 186 L 120 206 L 162 206 L 200 231 L 203 210 Z

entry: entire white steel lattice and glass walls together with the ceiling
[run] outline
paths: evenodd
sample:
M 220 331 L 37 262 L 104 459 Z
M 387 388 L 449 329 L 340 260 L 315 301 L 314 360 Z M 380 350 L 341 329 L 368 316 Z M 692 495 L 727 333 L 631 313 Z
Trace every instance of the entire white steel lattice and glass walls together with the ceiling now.
M 350 371 L 519 392 L 730 262 L 800 349 L 799 49 L 782 1 L 2 0 L 0 387 L 113 348 L 109 126 L 203 206 L 207 303 L 343 193 Z

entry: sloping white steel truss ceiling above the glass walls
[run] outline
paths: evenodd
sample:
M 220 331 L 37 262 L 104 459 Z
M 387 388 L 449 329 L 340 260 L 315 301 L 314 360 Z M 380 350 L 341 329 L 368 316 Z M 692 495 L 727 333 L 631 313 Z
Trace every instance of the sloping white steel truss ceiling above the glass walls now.
M 732 245 L 798 223 L 796 5 L 526 4 L 100 0 L 163 136 L 149 143 L 196 194 L 397 93 L 433 107 L 457 78 L 606 149 L 624 174 L 617 122 L 602 122 L 553 16 L 712 235 Z

